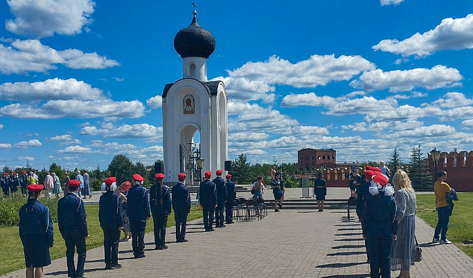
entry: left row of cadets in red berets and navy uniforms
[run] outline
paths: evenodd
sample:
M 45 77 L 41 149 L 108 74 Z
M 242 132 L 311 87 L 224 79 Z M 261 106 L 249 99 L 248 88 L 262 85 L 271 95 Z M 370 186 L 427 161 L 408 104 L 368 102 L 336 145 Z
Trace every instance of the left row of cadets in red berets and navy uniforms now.
M 236 197 L 235 184 L 231 182 L 231 175 L 226 175 L 226 180 L 222 178 L 222 170 L 217 170 L 216 174 L 217 178 L 211 181 L 212 173 L 206 172 L 199 187 L 199 202 L 204 210 L 206 232 L 214 230 L 214 210 L 215 227 L 225 227 L 222 207 L 226 207 L 226 223 L 233 223 L 231 212 Z M 150 219 L 151 213 L 154 221 L 155 250 L 168 248 L 166 225 L 171 207 L 175 213 L 176 242 L 188 241 L 185 237 L 186 221 L 190 212 L 190 193 L 185 185 L 186 174 L 181 173 L 177 177 L 179 182 L 170 188 L 163 184 L 164 175 L 156 174 L 149 197 L 148 189 L 143 187 L 143 177 L 139 174 L 133 175 L 132 183 L 122 183 L 119 193 L 116 192 L 115 177 L 105 180 L 102 184 L 102 191 L 105 193 L 100 196 L 99 201 L 99 221 L 104 234 L 105 270 L 122 267 L 118 263 L 121 230 L 125 230 L 125 238 L 132 237 L 134 259 L 145 257 L 144 235 L 146 221 Z M 57 222 L 66 243 L 68 277 L 84 277 L 87 257 L 85 240 L 89 237 L 89 232 L 84 202 L 79 195 L 81 181 L 69 180 L 68 193 L 57 204 Z M 51 264 L 49 248 L 53 247 L 53 221 L 48 207 L 39 202 L 44 186 L 30 184 L 27 189 L 28 203 L 19 211 L 19 236 L 24 245 L 26 277 L 42 277 L 43 267 Z M 77 266 L 74 262 L 75 250 L 78 253 Z

